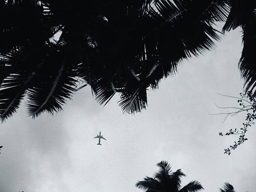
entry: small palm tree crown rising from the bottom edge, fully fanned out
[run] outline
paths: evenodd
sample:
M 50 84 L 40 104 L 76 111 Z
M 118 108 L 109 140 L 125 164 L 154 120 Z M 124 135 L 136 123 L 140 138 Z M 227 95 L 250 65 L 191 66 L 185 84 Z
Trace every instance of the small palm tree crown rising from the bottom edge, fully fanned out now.
M 172 172 L 170 164 L 166 161 L 156 165 L 160 170 L 155 174 L 155 177 L 146 177 L 143 181 L 138 181 L 136 187 L 145 192 L 196 192 L 204 189 L 198 181 L 191 181 L 181 187 L 181 177 L 186 175 L 180 169 Z

